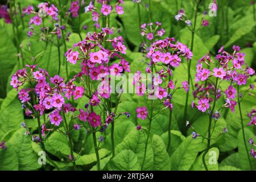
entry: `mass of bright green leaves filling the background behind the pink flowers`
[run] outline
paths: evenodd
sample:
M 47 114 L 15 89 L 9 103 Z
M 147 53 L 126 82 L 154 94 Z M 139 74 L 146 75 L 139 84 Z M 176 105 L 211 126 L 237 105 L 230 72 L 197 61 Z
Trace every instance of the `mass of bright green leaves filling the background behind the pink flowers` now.
M 64 0 L 69 5 L 70 1 Z M 37 0 L 20 0 L 22 7 L 27 5 L 37 6 L 40 1 Z M 201 11 L 207 8 L 211 1 L 206 1 Z M 216 54 L 218 48 L 222 45 L 228 51 L 232 50 L 233 44 L 242 48 L 241 52 L 246 53 L 246 63 L 255 69 L 256 67 L 256 42 L 255 31 L 256 22 L 253 16 L 253 6 L 250 1 L 217 1 L 218 11 L 216 17 L 209 17 L 209 26 L 200 28 L 196 32 L 195 47 L 193 49 L 192 59 L 192 76 L 194 80 L 195 68 L 197 60 L 203 55 L 210 52 Z M 125 38 L 127 50 L 126 60 L 130 62 L 131 72 L 137 70 L 144 71 L 146 64 L 142 63 L 144 59 L 142 53 L 139 52 L 139 44 L 141 43 L 141 35 L 138 31 L 137 5 L 131 1 L 124 1 L 125 14 L 117 16 L 112 15 L 110 18 L 110 27 L 120 28 L 119 34 Z M 188 31 L 184 24 L 176 22 L 174 15 L 179 9 L 184 9 L 185 13 L 192 17 L 194 13 L 194 2 L 192 0 L 175 1 L 175 0 L 152 0 L 152 19 L 162 22 L 166 30 L 164 36 L 176 38 L 178 41 L 190 45 L 191 32 Z M 148 22 L 146 10 L 142 9 L 142 22 Z M 200 16 L 197 25 L 200 26 Z M 86 32 L 93 31 L 91 15 L 82 13 L 81 26 L 88 25 L 88 30 L 82 32 L 85 37 Z M 28 22 L 29 18 L 24 17 L 24 22 Z M 227 26 L 228 22 L 228 26 Z M 67 43 L 70 48 L 74 43 L 80 41 L 79 35 L 76 33 L 78 27 L 77 19 L 68 22 L 67 28 L 72 32 L 70 40 Z M 24 135 L 24 129 L 20 128 L 20 123 L 25 122 L 30 128 L 31 133 L 37 132 L 37 123 L 34 119 L 24 117 L 21 104 L 17 97 L 16 90 L 9 85 L 10 77 L 16 70 L 22 67 L 17 59 L 16 46 L 22 46 L 26 50 L 26 64 L 31 64 L 31 57 L 35 57 L 40 52 L 42 56 L 38 60 L 41 68 L 48 68 L 49 75 L 53 76 L 57 72 L 57 48 L 52 47 L 49 53 L 49 47 L 45 50 L 45 43 L 36 38 L 27 38 L 28 26 L 24 30 L 19 27 L 18 40 L 13 35 L 11 24 L 6 24 L 3 19 L 0 20 L 0 142 L 7 141 L 8 149 L 0 150 L 0 170 L 38 170 L 42 169 L 38 164 L 37 152 L 40 147 L 31 142 L 31 138 Z M 31 51 L 28 50 L 27 43 L 30 43 Z M 63 46 L 61 46 L 63 52 Z M 47 66 L 49 59 L 50 65 Z M 62 57 L 62 59 L 64 59 Z M 62 60 L 61 59 L 61 60 Z M 183 63 L 184 64 L 184 63 Z M 79 67 L 69 64 L 69 75 L 75 75 L 79 72 Z M 176 69 L 175 79 L 178 82 L 187 79 L 187 66 Z M 64 67 L 61 68 L 64 70 Z M 65 77 L 65 72 L 61 72 L 61 76 Z M 249 80 L 249 83 L 255 84 L 255 77 Z M 179 90 L 177 92 L 180 92 Z M 253 92 L 256 95 L 254 90 Z M 167 145 L 167 126 L 168 114 L 158 115 L 152 121 L 152 137 L 148 146 L 147 157 L 144 169 L 146 170 L 203 170 L 201 162 L 201 152 L 205 150 L 206 141 L 201 139 L 192 139 L 191 130 L 185 127 L 182 121 L 184 108 L 183 93 L 177 93 L 174 98 L 174 113 L 171 130 L 171 150 L 167 154 L 165 148 Z M 192 97 L 189 98 L 192 101 Z M 109 170 L 139 170 L 144 152 L 144 136 L 136 130 L 137 125 L 148 127 L 148 121 L 141 121 L 136 117 L 136 107 L 138 105 L 148 105 L 147 99 L 139 98 L 136 95 L 124 94 L 122 96 L 122 104 L 119 105 L 118 111 L 129 111 L 131 117 L 118 119 L 115 127 L 115 150 L 117 155 L 110 160 L 110 137 L 109 131 L 105 136 L 105 142 L 100 147 L 101 169 Z M 77 101 L 77 107 L 83 107 L 85 100 Z M 246 97 L 242 102 L 243 122 L 245 125 L 246 138 L 254 138 L 255 127 L 246 126 L 249 122 L 247 113 L 256 108 L 255 98 Z M 154 114 L 160 109 L 155 108 Z M 206 134 L 208 127 L 208 117 L 199 111 L 188 110 L 190 121 L 201 134 Z M 235 113 L 221 113 L 221 117 L 216 123 L 216 129 L 213 136 L 217 136 L 223 127 L 228 128 L 228 133 L 223 135 L 217 141 L 212 140 L 210 151 L 216 151 L 218 154 L 218 163 L 209 165 L 212 170 L 249 170 L 250 166 L 247 161 L 246 151 L 241 134 L 241 123 L 239 120 L 238 109 Z M 99 134 L 98 134 L 99 135 Z M 85 130 L 74 131 L 72 133 L 72 142 L 74 144 L 73 151 L 79 152 L 82 147 L 82 156 L 77 160 L 79 169 L 94 170 L 96 169 L 96 156 L 93 151 L 92 136 Z M 250 146 L 248 146 L 250 149 Z M 69 154 L 67 139 L 63 138 L 59 133 L 53 133 L 46 142 L 46 150 L 49 152 L 51 159 L 60 169 L 71 169 L 72 164 L 65 164 L 61 161 Z M 208 155 L 207 155 L 208 156 Z M 206 159 L 206 161 L 208 161 Z M 256 169 L 256 162 L 251 157 L 253 169 Z M 44 169 L 54 169 L 51 162 L 47 160 L 47 166 Z

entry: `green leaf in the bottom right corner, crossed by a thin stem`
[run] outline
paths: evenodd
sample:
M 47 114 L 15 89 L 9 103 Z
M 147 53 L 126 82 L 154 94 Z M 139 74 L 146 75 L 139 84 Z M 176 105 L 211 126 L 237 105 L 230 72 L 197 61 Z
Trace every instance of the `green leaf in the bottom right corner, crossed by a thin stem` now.
M 251 146 L 249 144 L 249 142 L 247 142 L 247 140 L 249 138 L 253 138 L 255 135 L 253 132 L 251 132 L 249 129 L 244 129 L 245 130 L 245 142 L 243 142 L 243 135 L 242 135 L 242 129 L 239 131 L 238 135 L 237 135 L 237 142 L 238 142 L 238 154 L 239 154 L 239 159 L 240 159 L 240 165 L 241 165 L 241 169 L 243 170 L 251 170 L 250 168 L 250 164 L 249 164 L 249 159 L 251 161 L 251 165 L 253 170 L 256 168 L 256 162 L 255 159 L 253 158 L 253 156 L 250 155 L 250 151 L 251 148 L 253 148 L 253 146 Z M 245 144 L 248 148 L 248 151 L 246 151 L 245 148 Z M 249 159 L 248 159 L 248 155 L 249 154 Z

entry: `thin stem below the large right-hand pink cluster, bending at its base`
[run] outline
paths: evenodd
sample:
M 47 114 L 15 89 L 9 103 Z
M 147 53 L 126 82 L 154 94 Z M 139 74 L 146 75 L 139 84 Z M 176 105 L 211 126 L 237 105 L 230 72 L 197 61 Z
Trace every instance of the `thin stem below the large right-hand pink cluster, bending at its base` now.
M 215 82 L 213 106 L 212 106 L 212 110 L 210 111 L 210 114 L 209 114 L 207 149 L 204 151 L 204 154 L 203 154 L 203 164 L 204 164 L 204 168 L 205 168 L 206 171 L 208 171 L 208 167 L 207 167 L 207 164 L 205 163 L 205 155 L 207 154 L 207 152 L 210 149 L 210 137 L 211 137 L 210 127 L 212 126 L 212 114 L 214 112 L 215 105 L 216 105 L 216 97 L 217 97 L 217 92 L 218 92 L 218 86 L 217 85 L 218 85 L 218 77 L 216 78 L 216 82 Z

